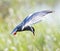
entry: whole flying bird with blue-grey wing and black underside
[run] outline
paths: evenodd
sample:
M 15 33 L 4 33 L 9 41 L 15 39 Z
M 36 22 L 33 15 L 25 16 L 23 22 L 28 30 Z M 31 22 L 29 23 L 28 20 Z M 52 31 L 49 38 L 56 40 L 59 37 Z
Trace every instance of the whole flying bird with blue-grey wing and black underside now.
M 35 12 L 27 16 L 19 25 L 17 25 L 11 34 L 16 35 L 17 32 L 20 31 L 31 31 L 33 35 L 35 35 L 35 29 L 32 27 L 33 24 L 41 22 L 45 15 L 52 13 L 51 10 L 44 10 L 40 12 Z

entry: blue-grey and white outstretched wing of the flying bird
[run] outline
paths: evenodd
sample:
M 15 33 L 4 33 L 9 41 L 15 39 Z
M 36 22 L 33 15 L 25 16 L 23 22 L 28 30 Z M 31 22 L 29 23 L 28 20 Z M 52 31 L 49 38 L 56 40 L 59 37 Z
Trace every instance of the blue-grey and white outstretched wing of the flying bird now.
M 32 24 L 35 24 L 39 21 L 41 21 L 45 15 L 49 14 L 49 13 L 52 13 L 53 11 L 50 11 L 50 10 L 44 10 L 44 11 L 41 11 L 41 12 L 35 12 L 29 16 L 27 16 L 23 22 L 21 23 L 21 25 L 24 25 L 23 27 L 26 27 L 26 26 L 30 26 Z

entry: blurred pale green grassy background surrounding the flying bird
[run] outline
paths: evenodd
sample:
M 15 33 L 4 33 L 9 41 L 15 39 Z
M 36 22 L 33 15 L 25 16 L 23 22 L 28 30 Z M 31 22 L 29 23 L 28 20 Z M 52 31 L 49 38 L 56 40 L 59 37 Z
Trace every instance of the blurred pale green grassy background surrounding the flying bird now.
M 10 34 L 29 14 L 41 10 L 55 12 L 29 31 Z M 0 0 L 0 51 L 60 51 L 60 0 Z

